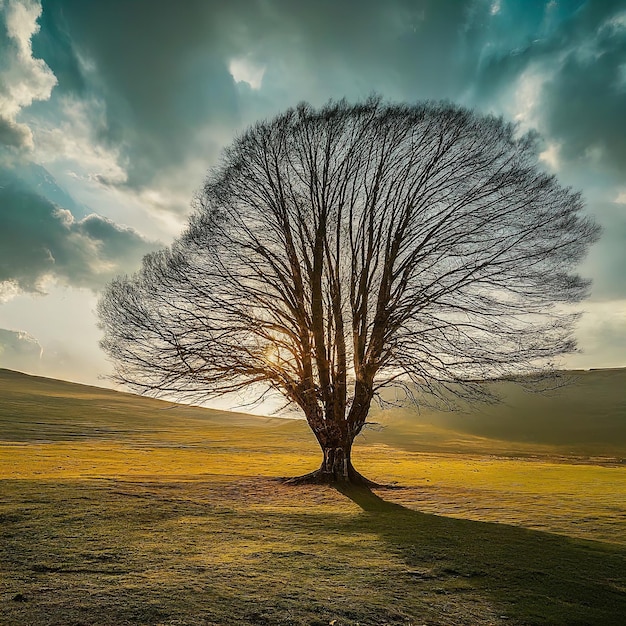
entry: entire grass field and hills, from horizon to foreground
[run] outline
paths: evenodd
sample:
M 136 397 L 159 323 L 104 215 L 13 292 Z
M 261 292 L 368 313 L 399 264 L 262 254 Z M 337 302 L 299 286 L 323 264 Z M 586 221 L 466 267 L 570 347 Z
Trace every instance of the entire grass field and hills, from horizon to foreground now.
M 372 493 L 277 481 L 300 421 L 0 370 L 0 624 L 624 624 L 626 372 L 578 378 L 376 412 Z

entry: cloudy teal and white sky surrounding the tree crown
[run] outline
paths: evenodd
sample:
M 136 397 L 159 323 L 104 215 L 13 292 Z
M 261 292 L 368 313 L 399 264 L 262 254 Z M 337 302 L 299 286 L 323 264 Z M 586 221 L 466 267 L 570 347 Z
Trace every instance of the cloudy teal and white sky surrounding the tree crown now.
M 626 365 L 626 0 L 0 0 L 0 367 L 103 384 L 98 291 L 238 132 L 448 99 L 544 140 L 604 227 L 569 367 Z

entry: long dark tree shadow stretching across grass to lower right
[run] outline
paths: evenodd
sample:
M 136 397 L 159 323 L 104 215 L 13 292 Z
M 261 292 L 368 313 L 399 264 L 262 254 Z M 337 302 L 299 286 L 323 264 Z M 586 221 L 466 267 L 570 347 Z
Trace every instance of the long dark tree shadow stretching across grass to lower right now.
M 476 590 L 496 619 L 523 624 L 626 623 L 621 546 L 421 513 L 365 487 L 338 491 L 366 514 L 356 524 L 375 530 L 404 559 L 416 591 L 426 581 L 451 597 Z

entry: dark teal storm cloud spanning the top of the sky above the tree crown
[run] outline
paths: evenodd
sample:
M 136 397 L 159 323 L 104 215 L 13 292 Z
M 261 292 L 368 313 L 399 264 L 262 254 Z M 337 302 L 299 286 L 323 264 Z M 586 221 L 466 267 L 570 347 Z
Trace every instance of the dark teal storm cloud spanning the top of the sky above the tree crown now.
M 537 94 L 547 139 L 615 171 L 626 164 L 620 11 L 623 0 L 44 0 L 33 52 L 56 96 L 104 100 L 94 139 L 121 149 L 133 187 L 202 157 L 207 125 L 235 132 L 302 98 L 371 91 L 493 109 L 533 67 L 552 76 Z M 247 56 L 265 68 L 260 93 L 229 72 Z

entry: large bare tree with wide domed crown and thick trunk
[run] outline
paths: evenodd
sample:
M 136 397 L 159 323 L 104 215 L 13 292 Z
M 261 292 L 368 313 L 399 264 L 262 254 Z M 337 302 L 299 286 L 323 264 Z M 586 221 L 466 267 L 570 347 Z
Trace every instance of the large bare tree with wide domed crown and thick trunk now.
M 323 451 L 307 480 L 362 482 L 350 454 L 384 387 L 472 396 L 575 349 L 598 236 L 538 139 L 446 103 L 307 104 L 225 150 L 174 244 L 99 303 L 116 379 L 297 405 Z

